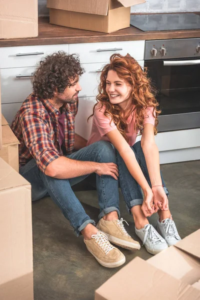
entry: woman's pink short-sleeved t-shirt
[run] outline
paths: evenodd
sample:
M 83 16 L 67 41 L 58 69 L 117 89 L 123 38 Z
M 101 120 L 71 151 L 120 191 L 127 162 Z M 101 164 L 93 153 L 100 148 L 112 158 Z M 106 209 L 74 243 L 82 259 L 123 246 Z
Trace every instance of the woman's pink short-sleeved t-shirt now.
M 116 125 L 114 124 L 113 120 L 110 123 L 111 117 L 105 116 L 103 113 L 105 111 L 105 106 L 99 109 L 100 104 L 98 104 L 95 108 L 93 120 L 92 120 L 92 127 L 91 133 L 87 140 L 87 145 L 98 141 L 98 140 L 107 140 L 109 141 L 108 137 L 105 135 L 109 131 L 113 129 L 117 129 Z M 154 117 L 153 117 L 153 107 L 147 107 L 145 109 L 146 116 L 144 116 L 143 124 L 152 124 L 154 125 Z M 126 136 L 129 138 L 128 144 L 132 146 L 135 143 L 135 139 L 137 136 L 137 132 L 134 130 L 134 113 L 133 115 L 130 114 L 127 118 L 127 128 L 126 128 Z

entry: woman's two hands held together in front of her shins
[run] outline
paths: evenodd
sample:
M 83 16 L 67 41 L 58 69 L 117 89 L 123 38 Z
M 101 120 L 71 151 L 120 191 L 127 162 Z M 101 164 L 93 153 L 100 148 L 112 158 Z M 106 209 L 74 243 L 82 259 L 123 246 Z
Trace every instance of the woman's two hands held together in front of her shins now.
M 168 210 L 168 198 L 162 186 L 154 186 L 144 192 L 141 210 L 145 216 L 151 216 L 158 209 Z

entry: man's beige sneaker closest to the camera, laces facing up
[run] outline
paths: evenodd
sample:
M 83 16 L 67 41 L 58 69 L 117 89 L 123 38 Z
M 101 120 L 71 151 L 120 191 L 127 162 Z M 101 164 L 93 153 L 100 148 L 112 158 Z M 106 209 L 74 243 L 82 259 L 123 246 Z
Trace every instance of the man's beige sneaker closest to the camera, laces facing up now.
M 96 258 L 96 260 L 103 266 L 116 267 L 125 262 L 125 256 L 119 249 L 113 247 L 107 236 L 98 231 L 91 235 L 91 239 L 84 239 L 87 250 Z

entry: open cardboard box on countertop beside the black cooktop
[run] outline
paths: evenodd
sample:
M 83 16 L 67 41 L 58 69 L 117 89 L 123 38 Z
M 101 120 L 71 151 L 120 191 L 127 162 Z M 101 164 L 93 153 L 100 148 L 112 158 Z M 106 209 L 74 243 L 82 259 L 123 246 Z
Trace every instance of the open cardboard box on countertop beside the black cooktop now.
M 145 0 L 47 0 L 50 23 L 100 32 L 130 25 L 130 6 Z

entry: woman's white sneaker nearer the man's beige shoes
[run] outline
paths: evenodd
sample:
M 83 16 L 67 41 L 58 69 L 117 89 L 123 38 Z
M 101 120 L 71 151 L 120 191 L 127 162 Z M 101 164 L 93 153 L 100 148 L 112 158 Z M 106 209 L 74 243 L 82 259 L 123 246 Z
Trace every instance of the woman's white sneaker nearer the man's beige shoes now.
M 159 235 L 151 224 L 146 224 L 143 228 L 135 227 L 137 236 L 142 240 L 146 251 L 151 254 L 157 254 L 160 251 L 168 248 L 166 241 Z

